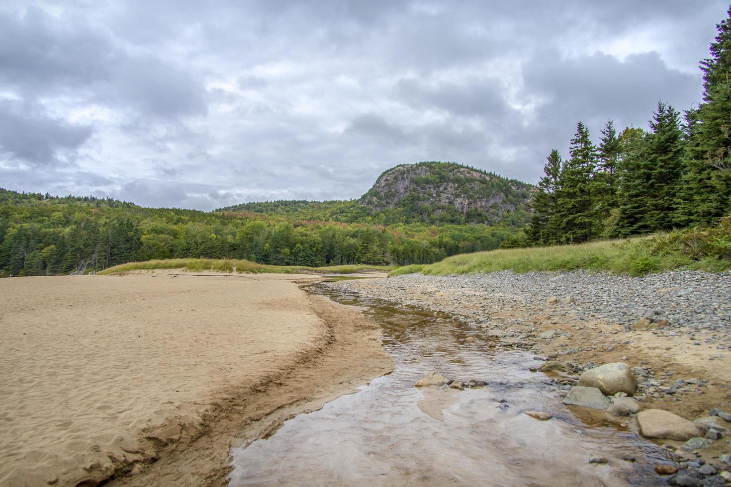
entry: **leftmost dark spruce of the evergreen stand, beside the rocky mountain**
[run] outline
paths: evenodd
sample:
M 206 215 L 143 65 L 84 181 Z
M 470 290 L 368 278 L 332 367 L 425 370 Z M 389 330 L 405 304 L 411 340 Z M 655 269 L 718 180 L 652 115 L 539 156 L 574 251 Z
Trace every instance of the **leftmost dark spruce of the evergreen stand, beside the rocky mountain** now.
M 561 190 L 561 154 L 558 150 L 551 150 L 543 166 L 544 176 L 538 183 L 538 192 L 531 202 L 533 215 L 531 223 L 526 229 L 528 242 L 532 245 L 547 245 L 559 242 L 558 221 L 558 191 Z

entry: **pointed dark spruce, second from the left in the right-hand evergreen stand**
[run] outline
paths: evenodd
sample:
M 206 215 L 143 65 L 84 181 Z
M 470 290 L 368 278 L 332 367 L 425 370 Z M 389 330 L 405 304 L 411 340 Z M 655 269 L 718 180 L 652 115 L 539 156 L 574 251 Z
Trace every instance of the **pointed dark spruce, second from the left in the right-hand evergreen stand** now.
M 569 149 L 571 158 L 561 172 L 556 219 L 565 243 L 586 242 L 600 229 L 596 210 L 596 147 L 586 126 L 579 122 Z

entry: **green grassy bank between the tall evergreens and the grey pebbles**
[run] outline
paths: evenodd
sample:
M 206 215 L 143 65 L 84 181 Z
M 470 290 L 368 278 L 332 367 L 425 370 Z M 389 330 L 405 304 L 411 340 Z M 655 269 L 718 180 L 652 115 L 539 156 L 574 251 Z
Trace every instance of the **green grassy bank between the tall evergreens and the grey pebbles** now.
M 731 218 L 724 218 L 713 228 L 687 229 L 649 237 L 462 254 L 436 264 L 399 267 L 391 275 L 577 269 L 629 275 L 670 269 L 727 271 L 731 269 Z

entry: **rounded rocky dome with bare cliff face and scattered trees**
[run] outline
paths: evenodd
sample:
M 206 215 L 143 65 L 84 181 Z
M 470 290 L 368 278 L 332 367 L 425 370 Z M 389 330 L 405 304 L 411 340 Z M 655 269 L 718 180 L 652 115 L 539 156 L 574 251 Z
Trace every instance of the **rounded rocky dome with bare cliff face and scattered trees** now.
M 496 223 L 510 212 L 527 215 L 534 186 L 460 164 L 423 162 L 395 166 L 359 200 L 374 212 L 397 210 L 416 218 Z M 520 217 L 520 218 L 524 218 Z

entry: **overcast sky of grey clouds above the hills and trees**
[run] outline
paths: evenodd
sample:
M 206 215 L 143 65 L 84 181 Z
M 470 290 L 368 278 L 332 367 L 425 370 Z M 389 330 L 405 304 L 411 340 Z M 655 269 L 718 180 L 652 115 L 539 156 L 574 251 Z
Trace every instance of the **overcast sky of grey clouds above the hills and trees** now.
M 212 210 L 455 161 L 536 183 L 582 120 L 702 101 L 724 1 L 0 4 L 0 187 Z

